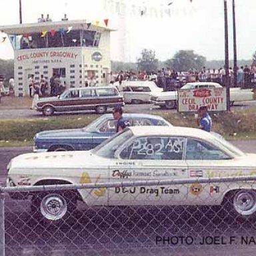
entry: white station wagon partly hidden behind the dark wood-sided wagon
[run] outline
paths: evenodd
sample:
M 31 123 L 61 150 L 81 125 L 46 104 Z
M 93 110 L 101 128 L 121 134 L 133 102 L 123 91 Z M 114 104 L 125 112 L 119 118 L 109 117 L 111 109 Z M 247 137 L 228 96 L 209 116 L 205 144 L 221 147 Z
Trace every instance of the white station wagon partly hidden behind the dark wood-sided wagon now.
M 161 93 L 162 88 L 157 87 L 154 81 L 123 81 L 114 84 L 123 95 L 125 103 L 149 103 L 152 93 Z

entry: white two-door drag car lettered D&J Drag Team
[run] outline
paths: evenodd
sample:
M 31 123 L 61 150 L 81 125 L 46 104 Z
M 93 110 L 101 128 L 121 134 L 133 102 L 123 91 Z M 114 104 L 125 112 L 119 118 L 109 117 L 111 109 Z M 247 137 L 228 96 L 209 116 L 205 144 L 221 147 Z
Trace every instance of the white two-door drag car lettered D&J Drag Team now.
M 253 176 L 255 167 L 256 154 L 245 154 L 206 131 L 129 127 L 91 151 L 19 155 L 9 163 L 7 186 Z M 254 189 L 253 182 L 103 187 L 79 189 L 71 198 L 45 191 L 32 194 L 32 205 L 51 221 L 68 215 L 78 199 L 87 205 L 221 205 L 231 198 L 235 214 L 252 216 Z

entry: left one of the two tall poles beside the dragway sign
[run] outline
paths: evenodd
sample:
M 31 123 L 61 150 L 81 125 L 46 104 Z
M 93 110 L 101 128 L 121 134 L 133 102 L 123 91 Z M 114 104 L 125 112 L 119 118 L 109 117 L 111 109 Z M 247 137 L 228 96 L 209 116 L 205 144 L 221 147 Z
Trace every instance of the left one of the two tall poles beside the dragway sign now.
M 229 100 L 229 31 L 227 24 L 227 0 L 224 0 L 224 23 L 225 23 L 225 87 L 227 89 L 227 111 L 230 111 Z

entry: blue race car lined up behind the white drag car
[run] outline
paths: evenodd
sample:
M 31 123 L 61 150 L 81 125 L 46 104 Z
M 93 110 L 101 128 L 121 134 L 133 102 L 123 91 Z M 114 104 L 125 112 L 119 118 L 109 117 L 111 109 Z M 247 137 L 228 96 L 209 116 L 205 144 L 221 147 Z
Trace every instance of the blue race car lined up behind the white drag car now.
M 146 114 L 123 114 L 127 126 L 172 126 L 162 117 Z M 34 137 L 34 152 L 89 150 L 96 147 L 117 131 L 117 121 L 112 114 L 105 114 L 82 129 L 41 131 Z

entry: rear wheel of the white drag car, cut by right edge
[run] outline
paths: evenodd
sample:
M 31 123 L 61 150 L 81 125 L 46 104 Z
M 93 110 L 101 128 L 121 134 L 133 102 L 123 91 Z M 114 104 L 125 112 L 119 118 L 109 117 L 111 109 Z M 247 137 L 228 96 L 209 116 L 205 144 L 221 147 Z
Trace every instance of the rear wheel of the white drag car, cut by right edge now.
M 241 215 L 251 215 L 255 213 L 255 191 L 239 191 L 233 199 L 233 205 L 237 213 L 240 213 Z

